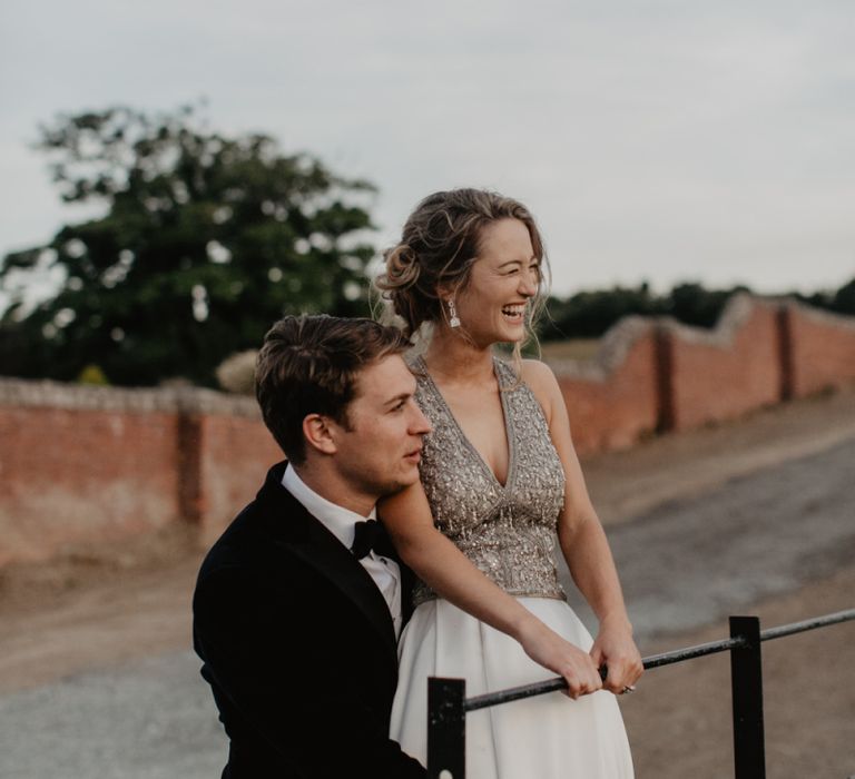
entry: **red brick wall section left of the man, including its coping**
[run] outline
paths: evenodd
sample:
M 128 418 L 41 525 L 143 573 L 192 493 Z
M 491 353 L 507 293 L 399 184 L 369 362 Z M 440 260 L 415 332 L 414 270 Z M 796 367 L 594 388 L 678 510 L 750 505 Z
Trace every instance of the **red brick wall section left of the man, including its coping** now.
M 0 381 L 0 565 L 176 522 L 209 538 L 281 458 L 249 398 Z

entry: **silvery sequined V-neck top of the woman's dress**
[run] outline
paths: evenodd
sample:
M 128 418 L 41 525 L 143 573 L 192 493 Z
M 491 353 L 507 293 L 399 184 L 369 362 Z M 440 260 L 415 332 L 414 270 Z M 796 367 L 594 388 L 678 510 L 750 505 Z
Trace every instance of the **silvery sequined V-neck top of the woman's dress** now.
M 510 456 L 504 485 L 464 435 L 424 361 L 411 365 L 415 400 L 433 426 L 421 463 L 433 521 L 505 592 L 566 600 L 553 556 L 564 471 L 533 393 L 510 365 L 498 358 L 493 364 Z M 416 583 L 415 605 L 433 598 L 433 590 Z

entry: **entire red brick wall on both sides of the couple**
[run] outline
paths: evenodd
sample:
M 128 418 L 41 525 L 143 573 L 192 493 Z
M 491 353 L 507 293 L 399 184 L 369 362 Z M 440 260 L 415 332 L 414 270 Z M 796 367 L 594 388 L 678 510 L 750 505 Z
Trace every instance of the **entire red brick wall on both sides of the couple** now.
M 855 319 L 735 296 L 714 331 L 629 317 L 554 363 L 580 453 L 855 383 Z M 175 523 L 209 541 L 281 460 L 255 401 L 0 379 L 0 566 Z

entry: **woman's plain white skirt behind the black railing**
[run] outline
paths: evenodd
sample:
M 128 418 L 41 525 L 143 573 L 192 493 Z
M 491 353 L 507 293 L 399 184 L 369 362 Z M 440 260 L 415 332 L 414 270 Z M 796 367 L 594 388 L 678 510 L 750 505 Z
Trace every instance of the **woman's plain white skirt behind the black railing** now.
M 551 598 L 519 601 L 568 641 L 593 643 L 573 610 Z M 399 644 L 391 736 L 428 763 L 428 677 L 466 680 L 466 697 L 557 674 L 504 633 L 444 600 L 422 603 Z M 466 779 L 630 779 L 632 758 L 615 696 L 550 692 L 466 714 Z

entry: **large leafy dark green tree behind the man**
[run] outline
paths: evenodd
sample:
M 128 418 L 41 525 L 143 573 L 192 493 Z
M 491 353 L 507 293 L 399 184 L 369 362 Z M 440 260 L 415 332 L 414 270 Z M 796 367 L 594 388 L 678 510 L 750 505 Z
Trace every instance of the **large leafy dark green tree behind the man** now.
M 264 135 L 210 131 L 194 108 L 60 116 L 37 147 L 62 199 L 104 216 L 4 258 L 4 374 L 72 379 L 95 364 L 114 384 L 213 385 L 285 313 L 368 313 L 368 183 Z M 24 289 L 46 267 L 63 280 L 33 307 Z

